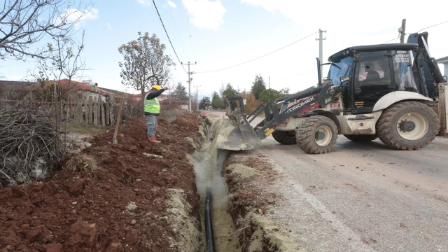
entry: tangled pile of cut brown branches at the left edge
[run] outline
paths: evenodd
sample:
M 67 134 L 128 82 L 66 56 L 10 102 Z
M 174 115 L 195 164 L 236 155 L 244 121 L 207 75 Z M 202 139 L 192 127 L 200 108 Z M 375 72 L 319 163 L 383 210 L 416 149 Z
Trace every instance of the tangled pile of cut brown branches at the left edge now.
M 62 158 L 62 141 L 32 102 L 0 104 L 0 186 L 45 179 Z

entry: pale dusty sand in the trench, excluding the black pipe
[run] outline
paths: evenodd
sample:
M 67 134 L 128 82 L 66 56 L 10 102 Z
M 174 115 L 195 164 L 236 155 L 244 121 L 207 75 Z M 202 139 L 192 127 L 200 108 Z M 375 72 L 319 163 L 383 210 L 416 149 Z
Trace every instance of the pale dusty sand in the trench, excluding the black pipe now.
M 217 125 L 216 127 L 219 127 Z M 219 129 L 212 129 L 217 132 Z M 206 251 L 205 224 L 204 224 L 204 203 L 207 188 L 211 188 L 212 197 L 212 224 L 214 232 L 215 251 L 241 251 L 239 241 L 235 235 L 235 224 L 232 217 L 227 212 L 226 196 L 228 188 L 225 185 L 221 170 L 225 160 L 230 155 L 230 151 L 216 149 L 216 136 L 214 141 L 210 141 L 209 129 L 207 125 L 207 142 L 202 144 L 200 151 L 197 151 L 193 158 L 195 160 L 195 173 L 197 191 L 200 194 L 200 213 L 202 223 L 202 250 Z

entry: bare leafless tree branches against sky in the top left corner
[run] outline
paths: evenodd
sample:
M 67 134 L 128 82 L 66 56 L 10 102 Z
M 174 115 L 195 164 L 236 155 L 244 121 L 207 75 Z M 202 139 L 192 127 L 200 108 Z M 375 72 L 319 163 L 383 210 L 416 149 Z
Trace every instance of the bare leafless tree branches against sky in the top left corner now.
M 73 8 L 71 0 L 5 0 L 0 4 L 0 57 L 45 57 L 45 50 L 30 46 L 45 36 L 69 37 L 92 6 Z

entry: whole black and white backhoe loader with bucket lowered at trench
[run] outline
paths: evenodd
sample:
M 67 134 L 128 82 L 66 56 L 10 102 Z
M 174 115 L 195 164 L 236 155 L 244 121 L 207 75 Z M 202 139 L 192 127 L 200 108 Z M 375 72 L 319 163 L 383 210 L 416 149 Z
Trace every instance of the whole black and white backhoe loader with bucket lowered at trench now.
M 351 141 L 379 138 L 398 150 L 430 144 L 440 130 L 439 84 L 447 77 L 427 41 L 424 32 L 409 35 L 407 43 L 346 48 L 328 58 L 323 79 L 316 58 L 316 86 L 260 104 L 248 116 L 241 97 L 225 97 L 226 116 L 238 126 L 220 148 L 250 150 L 270 134 L 280 144 L 297 144 L 312 154 L 332 151 L 338 134 Z M 262 112 L 265 119 L 252 127 Z

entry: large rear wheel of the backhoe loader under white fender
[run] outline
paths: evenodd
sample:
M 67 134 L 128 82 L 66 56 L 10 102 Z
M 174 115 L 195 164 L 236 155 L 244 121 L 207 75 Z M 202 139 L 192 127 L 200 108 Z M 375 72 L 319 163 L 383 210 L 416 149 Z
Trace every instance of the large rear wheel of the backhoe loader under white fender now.
M 383 111 L 377 122 L 379 139 L 397 150 L 419 150 L 435 139 L 437 114 L 421 102 L 399 102 Z

